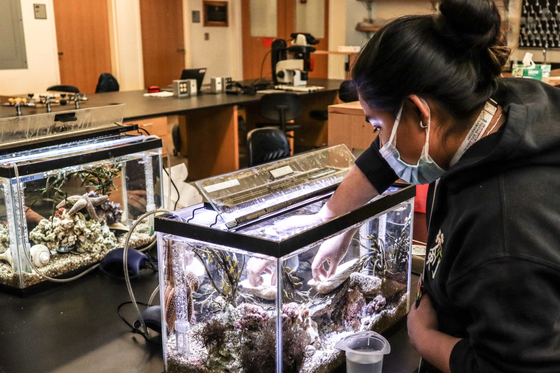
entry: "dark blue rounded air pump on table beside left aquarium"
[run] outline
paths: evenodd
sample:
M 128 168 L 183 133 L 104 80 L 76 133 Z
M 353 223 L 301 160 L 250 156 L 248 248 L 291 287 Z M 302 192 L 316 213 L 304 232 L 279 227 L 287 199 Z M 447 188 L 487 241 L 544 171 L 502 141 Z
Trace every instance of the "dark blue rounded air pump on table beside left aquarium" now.
M 124 278 L 123 271 L 123 248 L 111 250 L 99 263 L 99 269 L 114 278 Z M 128 275 L 130 278 L 138 277 L 146 268 L 155 268 L 152 259 L 136 249 L 129 248 L 127 251 Z

